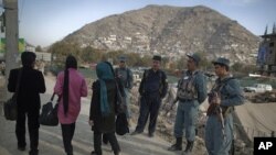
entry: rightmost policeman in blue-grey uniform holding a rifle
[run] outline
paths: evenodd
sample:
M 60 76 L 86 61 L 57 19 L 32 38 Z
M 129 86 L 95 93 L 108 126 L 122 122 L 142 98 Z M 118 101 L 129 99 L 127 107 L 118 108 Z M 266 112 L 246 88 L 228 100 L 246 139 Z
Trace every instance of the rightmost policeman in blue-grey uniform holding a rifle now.
M 230 75 L 230 60 L 223 57 L 212 62 L 217 76 L 209 93 L 205 146 L 209 155 L 229 155 L 233 140 L 234 106 L 243 104 L 238 81 Z

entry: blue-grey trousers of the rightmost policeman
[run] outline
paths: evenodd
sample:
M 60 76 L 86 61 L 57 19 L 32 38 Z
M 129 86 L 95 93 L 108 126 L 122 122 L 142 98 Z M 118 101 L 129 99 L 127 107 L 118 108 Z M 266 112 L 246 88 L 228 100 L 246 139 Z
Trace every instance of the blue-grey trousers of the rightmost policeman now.
M 205 126 L 205 145 L 209 155 L 229 155 L 233 140 L 233 117 L 224 119 L 225 135 L 223 139 L 222 125 L 216 115 L 210 115 Z

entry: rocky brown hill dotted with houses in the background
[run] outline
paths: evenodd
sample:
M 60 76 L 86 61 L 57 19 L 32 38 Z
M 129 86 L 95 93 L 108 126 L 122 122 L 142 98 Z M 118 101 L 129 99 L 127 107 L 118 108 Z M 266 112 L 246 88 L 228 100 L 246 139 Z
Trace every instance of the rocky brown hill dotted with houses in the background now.
M 253 62 L 259 38 L 237 21 L 203 5 L 148 5 L 86 24 L 64 41 L 82 47 L 179 57 L 189 52 Z

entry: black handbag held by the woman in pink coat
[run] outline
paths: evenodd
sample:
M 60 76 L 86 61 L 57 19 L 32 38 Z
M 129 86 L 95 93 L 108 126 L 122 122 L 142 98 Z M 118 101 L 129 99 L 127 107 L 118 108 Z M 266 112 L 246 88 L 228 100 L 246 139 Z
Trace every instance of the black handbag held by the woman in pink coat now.
M 42 112 L 39 118 L 40 124 L 42 125 L 56 126 L 59 124 L 57 108 L 61 98 L 59 98 L 57 103 L 53 106 L 54 96 L 55 93 L 53 93 L 51 100 L 42 107 Z

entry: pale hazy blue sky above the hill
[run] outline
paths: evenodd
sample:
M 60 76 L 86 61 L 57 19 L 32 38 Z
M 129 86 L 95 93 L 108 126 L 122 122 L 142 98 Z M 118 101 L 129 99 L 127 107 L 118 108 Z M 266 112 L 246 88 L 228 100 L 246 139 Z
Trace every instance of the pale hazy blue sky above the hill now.
M 270 32 L 276 22 L 276 0 L 19 0 L 20 37 L 35 46 L 47 46 L 87 23 L 148 4 L 203 4 L 236 20 L 255 35 L 264 34 L 267 24 Z

